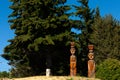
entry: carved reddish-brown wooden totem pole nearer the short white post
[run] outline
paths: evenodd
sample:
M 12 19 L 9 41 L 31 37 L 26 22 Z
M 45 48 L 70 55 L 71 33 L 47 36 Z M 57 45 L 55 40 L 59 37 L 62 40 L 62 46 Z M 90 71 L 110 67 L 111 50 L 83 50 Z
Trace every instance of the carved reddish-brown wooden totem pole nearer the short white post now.
M 74 42 L 71 42 L 71 48 L 70 48 L 70 53 L 71 53 L 71 56 L 70 56 L 70 76 L 76 76 L 76 56 L 74 55 L 75 54 L 75 43 Z

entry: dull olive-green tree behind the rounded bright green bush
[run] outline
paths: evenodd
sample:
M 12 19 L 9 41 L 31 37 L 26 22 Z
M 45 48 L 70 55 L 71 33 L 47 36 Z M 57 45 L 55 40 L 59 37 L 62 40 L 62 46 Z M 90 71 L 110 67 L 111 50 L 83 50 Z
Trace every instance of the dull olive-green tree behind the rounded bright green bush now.
M 95 18 L 92 24 L 93 33 L 90 34 L 90 41 L 94 44 L 95 61 L 97 64 L 107 58 L 119 59 L 119 31 L 120 26 L 111 15 Z

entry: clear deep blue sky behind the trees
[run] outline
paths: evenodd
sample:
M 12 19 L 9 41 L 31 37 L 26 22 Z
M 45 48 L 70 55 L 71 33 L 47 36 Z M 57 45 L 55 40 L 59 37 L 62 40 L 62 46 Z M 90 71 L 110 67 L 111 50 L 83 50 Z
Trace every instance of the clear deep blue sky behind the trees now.
M 68 0 L 67 4 L 79 5 L 77 0 Z M 12 12 L 9 9 L 10 5 L 9 0 L 0 1 L 0 55 L 4 53 L 5 46 L 9 44 L 8 40 L 14 38 L 14 31 L 10 29 L 10 24 L 8 23 L 8 16 Z M 101 16 L 111 14 L 115 19 L 120 20 L 120 0 L 89 0 L 89 7 L 91 9 L 99 7 Z M 77 19 L 76 17 L 71 18 Z M 7 60 L 0 57 L 0 72 L 10 70 L 11 66 L 7 63 Z

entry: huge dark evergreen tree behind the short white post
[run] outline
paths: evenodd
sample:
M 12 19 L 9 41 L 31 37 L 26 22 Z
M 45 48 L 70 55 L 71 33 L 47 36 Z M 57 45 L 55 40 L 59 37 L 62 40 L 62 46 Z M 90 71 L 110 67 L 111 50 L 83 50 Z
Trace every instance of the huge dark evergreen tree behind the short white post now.
M 16 36 L 9 40 L 3 57 L 13 66 L 13 74 L 45 74 L 46 68 L 52 68 L 53 74 L 68 75 L 71 25 L 66 0 L 11 2 L 9 22 Z

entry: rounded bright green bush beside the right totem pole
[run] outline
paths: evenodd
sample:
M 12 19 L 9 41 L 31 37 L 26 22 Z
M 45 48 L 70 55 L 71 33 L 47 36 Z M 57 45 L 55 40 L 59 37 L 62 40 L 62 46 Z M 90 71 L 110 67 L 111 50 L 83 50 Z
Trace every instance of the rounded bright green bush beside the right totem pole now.
M 97 66 L 96 77 L 102 80 L 119 80 L 120 61 L 117 59 L 106 59 Z

